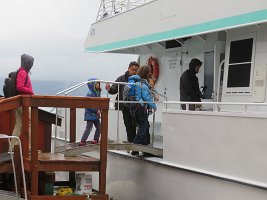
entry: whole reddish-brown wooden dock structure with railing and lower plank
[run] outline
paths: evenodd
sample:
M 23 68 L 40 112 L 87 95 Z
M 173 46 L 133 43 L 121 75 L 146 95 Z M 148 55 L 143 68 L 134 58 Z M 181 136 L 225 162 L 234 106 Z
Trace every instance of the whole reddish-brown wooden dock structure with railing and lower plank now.
M 99 174 L 99 193 L 90 195 L 93 200 L 108 200 L 106 193 L 106 167 L 107 167 L 107 135 L 108 135 L 108 98 L 88 98 L 88 97 L 69 97 L 69 96 L 37 96 L 37 95 L 19 95 L 11 98 L 0 99 L 0 114 L 14 113 L 14 110 L 22 107 L 22 151 L 25 171 L 27 173 L 27 193 L 28 198 L 32 200 L 52 200 L 52 199 L 86 199 L 86 196 L 54 196 L 41 195 L 39 193 L 39 184 L 41 179 L 39 175 L 43 172 L 68 171 L 69 186 L 75 183 L 76 171 L 94 171 Z M 65 157 L 63 154 L 51 152 L 51 123 L 60 125 L 55 122 L 56 117 L 50 116 L 51 120 L 47 120 L 44 113 L 39 113 L 38 107 L 50 108 L 66 108 L 70 111 L 69 119 L 65 124 L 69 125 L 70 142 L 76 141 L 76 109 L 77 108 L 99 108 L 101 114 L 101 142 L 99 159 L 76 155 L 73 157 Z M 4 115 L 3 116 L 7 116 Z M 0 121 L 0 131 L 12 134 L 14 125 L 14 116 L 9 114 L 8 127 L 3 121 Z M 12 117 L 13 116 L 13 117 Z M 31 116 L 31 118 L 29 118 Z M 42 118 L 43 116 L 43 118 Z M 40 120 L 49 124 L 39 123 Z M 31 126 L 29 126 L 29 123 Z M 2 127 L 2 128 L 1 128 Z M 29 137 L 29 127 L 31 128 L 31 137 Z M 29 146 L 31 152 L 29 153 Z M 7 147 L 0 146 L 0 150 L 6 150 Z M 38 153 L 38 150 L 43 153 Z M 15 148 L 16 150 L 16 148 Z M 1 152 L 1 151 L 0 151 Z M 2 151 L 3 152 L 3 151 Z M 45 152 L 45 153 L 44 153 Z M 20 167 L 19 156 L 15 159 L 16 166 Z M 9 162 L 7 162 L 9 163 Z M 12 166 L 12 165 L 11 165 Z M 17 170 L 16 170 L 17 171 Z M 18 170 L 19 172 L 19 170 Z M 17 173 L 17 180 L 21 179 L 21 174 Z

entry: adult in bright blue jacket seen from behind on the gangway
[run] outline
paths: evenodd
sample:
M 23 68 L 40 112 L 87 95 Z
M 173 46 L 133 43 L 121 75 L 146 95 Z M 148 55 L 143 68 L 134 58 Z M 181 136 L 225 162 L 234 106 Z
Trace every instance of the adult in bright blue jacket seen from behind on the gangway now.
M 135 86 L 135 101 L 139 102 L 136 104 L 135 110 L 135 120 L 138 124 L 138 132 L 134 138 L 134 144 L 148 145 L 150 143 L 148 109 L 152 108 L 154 111 L 157 110 L 149 89 L 150 86 L 148 80 L 150 74 L 150 66 L 145 65 L 138 69 L 137 75 L 133 75 L 128 79 L 129 82 L 135 80 L 135 83 L 137 84 Z M 137 153 L 139 152 L 134 152 L 134 154 Z

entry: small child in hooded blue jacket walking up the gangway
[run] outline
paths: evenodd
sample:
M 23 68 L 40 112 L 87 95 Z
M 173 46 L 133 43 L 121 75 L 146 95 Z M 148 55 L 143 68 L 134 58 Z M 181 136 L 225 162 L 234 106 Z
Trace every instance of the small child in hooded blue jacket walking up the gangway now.
M 93 81 L 97 80 L 96 78 L 91 78 L 88 81 Z M 100 97 L 101 94 L 101 87 L 99 82 L 89 82 L 87 84 L 88 86 L 88 93 L 87 97 Z M 92 131 L 93 125 L 95 125 L 95 135 L 94 135 L 94 140 L 91 142 L 92 144 L 97 144 L 99 142 L 99 137 L 100 137 L 100 115 L 101 115 L 101 110 L 96 109 L 96 108 L 85 108 L 84 112 L 84 121 L 86 121 L 86 128 L 84 130 L 83 136 L 81 138 L 81 141 L 79 143 L 79 146 L 84 146 L 86 145 L 86 140 Z

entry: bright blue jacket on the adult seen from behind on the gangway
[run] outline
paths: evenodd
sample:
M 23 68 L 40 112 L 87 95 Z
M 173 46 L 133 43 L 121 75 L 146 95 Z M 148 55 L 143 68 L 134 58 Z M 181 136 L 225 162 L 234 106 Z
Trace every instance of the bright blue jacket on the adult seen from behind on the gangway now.
M 136 101 L 139 101 L 143 107 L 145 106 L 145 104 L 142 102 L 146 101 L 148 102 L 147 103 L 148 108 L 154 108 L 154 109 L 157 108 L 156 104 L 153 103 L 153 97 L 150 93 L 149 83 L 147 82 L 147 80 L 142 79 L 141 81 L 141 77 L 139 75 L 133 75 L 128 78 L 128 82 L 130 83 L 135 82 L 136 84 L 140 85 L 140 86 L 138 85 L 135 86 L 135 100 Z

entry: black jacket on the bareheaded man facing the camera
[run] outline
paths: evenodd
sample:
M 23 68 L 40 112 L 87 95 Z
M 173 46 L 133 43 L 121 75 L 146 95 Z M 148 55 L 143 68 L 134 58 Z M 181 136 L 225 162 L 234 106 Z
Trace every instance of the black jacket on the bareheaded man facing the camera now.
M 131 75 L 129 74 L 128 71 L 125 72 L 125 74 L 119 76 L 115 82 L 128 82 L 128 77 L 130 77 Z M 120 100 L 123 100 L 123 89 L 124 89 L 125 85 L 120 85 Z M 118 93 L 118 84 L 113 84 L 110 87 L 110 90 L 108 91 L 109 94 L 117 94 Z M 118 95 L 116 97 L 116 100 L 118 100 Z M 123 104 L 120 103 L 120 110 L 122 110 L 123 108 Z M 115 102 L 115 109 L 118 110 L 118 103 Z

